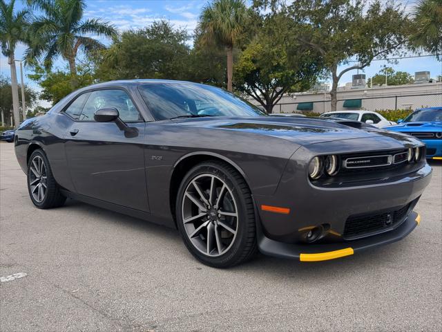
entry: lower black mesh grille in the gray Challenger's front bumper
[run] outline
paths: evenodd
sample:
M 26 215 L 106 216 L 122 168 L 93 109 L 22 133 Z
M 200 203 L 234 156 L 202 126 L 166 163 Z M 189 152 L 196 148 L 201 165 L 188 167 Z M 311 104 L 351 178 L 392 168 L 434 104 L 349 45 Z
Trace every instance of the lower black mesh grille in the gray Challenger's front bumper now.
M 404 220 L 412 203 L 392 208 L 390 211 L 349 216 L 345 222 L 343 237 L 354 239 L 392 229 Z

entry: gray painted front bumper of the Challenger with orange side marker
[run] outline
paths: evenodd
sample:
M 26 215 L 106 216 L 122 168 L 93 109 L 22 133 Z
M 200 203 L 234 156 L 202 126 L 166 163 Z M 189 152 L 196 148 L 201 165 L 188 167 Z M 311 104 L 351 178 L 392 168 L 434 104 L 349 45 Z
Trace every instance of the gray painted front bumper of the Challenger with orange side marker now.
M 350 218 L 414 205 L 430 183 L 432 169 L 424 162 L 423 167 L 407 174 L 392 172 L 389 177 L 348 187 L 316 187 L 303 181 L 306 174 L 290 167 L 286 174 L 291 177 L 282 177 L 273 196 L 254 196 L 262 232 L 275 241 L 310 246 L 303 241 L 309 228 L 326 223 L 332 234 L 327 240 L 350 241 L 354 237 L 347 237 L 345 231 Z M 286 208 L 287 213 L 265 210 L 263 205 Z

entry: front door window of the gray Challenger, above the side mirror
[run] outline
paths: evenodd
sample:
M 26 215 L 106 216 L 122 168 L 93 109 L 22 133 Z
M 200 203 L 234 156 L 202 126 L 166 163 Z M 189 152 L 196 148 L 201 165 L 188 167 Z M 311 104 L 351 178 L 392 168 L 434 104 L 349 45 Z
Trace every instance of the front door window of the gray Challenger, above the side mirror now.
M 79 120 L 94 121 L 94 114 L 99 109 L 114 107 L 119 112 L 119 118 L 124 122 L 143 120 L 135 108 L 131 98 L 123 90 L 99 90 L 90 93 L 90 98 L 84 105 Z

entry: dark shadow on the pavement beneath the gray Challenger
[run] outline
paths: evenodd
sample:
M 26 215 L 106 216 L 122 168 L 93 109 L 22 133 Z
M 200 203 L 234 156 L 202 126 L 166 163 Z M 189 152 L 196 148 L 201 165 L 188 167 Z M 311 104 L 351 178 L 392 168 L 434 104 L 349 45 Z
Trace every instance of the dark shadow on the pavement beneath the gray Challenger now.
M 88 216 L 89 219 L 90 217 L 94 218 L 94 216 L 99 216 L 99 218 L 95 220 L 96 223 L 106 223 L 107 225 L 105 227 L 116 226 L 120 228 L 120 232 L 124 232 L 124 230 L 135 230 L 136 232 L 148 234 L 146 241 L 151 241 L 149 240 L 151 238 L 165 240 L 168 248 L 164 248 L 164 255 L 176 255 L 177 257 L 175 258 L 177 259 L 188 260 L 189 262 L 185 262 L 184 264 L 197 266 L 198 270 L 216 270 L 215 268 L 200 264 L 190 252 L 188 252 L 179 232 L 175 229 L 73 200 L 68 200 L 65 208 L 73 210 L 73 213 L 92 214 Z M 278 279 L 280 277 L 294 278 L 297 280 L 299 280 L 299 278 L 306 278 L 309 280 L 317 279 L 318 282 L 322 282 L 324 279 L 339 279 L 343 277 L 343 274 L 354 274 L 355 270 L 357 270 L 358 273 L 369 273 L 375 266 L 385 265 L 389 268 L 394 268 L 394 257 L 397 258 L 398 255 L 405 255 L 403 253 L 405 241 L 407 241 L 407 239 L 387 246 L 372 248 L 365 252 L 358 252 L 357 255 L 350 257 L 307 263 L 294 259 L 268 257 L 258 252 L 251 261 L 220 271 L 224 274 L 249 273 L 251 275 L 273 276 Z M 175 248 L 175 251 L 170 250 L 168 252 L 169 248 Z M 178 252 L 176 250 L 178 250 Z M 146 253 L 146 255 L 148 255 L 148 253 Z M 200 267 L 198 268 L 198 266 Z

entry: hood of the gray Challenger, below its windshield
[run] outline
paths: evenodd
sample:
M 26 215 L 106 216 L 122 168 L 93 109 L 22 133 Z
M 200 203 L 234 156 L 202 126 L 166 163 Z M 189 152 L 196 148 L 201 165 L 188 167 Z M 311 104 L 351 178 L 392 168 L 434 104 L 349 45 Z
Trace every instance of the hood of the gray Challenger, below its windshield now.
M 354 124 L 355 122 L 351 123 Z M 362 124 L 363 129 L 357 129 L 334 121 L 314 118 L 279 118 L 267 116 L 250 118 L 189 118 L 177 120 L 176 124 L 201 129 L 240 131 L 242 133 L 272 136 L 296 142 L 299 145 L 332 142 L 334 140 L 374 138 L 379 136 L 409 142 L 409 138 L 405 139 L 408 136 L 366 126 L 365 124 Z

